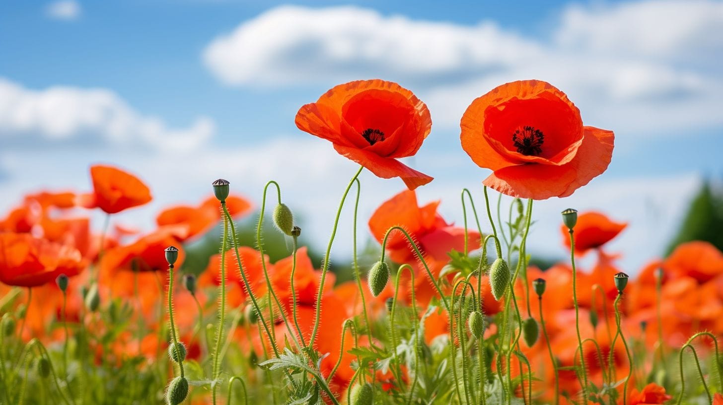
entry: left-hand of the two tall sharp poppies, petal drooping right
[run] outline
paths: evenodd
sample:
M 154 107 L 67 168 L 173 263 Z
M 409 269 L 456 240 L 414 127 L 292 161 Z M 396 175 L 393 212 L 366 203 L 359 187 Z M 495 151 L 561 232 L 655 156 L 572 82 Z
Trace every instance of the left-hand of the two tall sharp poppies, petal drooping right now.
M 427 106 L 395 82 L 358 80 L 338 85 L 299 108 L 296 127 L 333 143 L 344 157 L 409 189 L 432 181 L 397 161 L 414 155 L 432 130 Z

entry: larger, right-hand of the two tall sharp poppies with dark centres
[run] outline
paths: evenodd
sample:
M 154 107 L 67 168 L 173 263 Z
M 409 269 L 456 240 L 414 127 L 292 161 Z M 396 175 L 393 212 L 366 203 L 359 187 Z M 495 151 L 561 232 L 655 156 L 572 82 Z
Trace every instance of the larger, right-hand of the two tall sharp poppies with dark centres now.
M 484 185 L 534 200 L 567 197 L 602 174 L 615 140 L 612 131 L 583 126 L 568 96 L 539 80 L 476 98 L 460 125 L 462 148 L 492 170 Z

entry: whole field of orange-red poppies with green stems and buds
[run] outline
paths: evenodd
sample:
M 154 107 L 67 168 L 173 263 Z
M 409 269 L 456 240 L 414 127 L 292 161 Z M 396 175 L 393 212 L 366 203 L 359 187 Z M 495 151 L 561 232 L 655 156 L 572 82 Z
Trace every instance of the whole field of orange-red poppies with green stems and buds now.
M 10 196 L 0 404 L 723 405 L 714 244 L 623 269 L 607 243 L 628 223 L 559 200 L 559 227 L 534 236 L 569 257 L 543 268 L 527 249 L 535 201 L 572 195 L 612 161 L 614 128 L 581 117 L 539 80 L 471 100 L 458 158 L 482 184 L 439 196 L 461 205 L 452 223 L 440 200 L 418 200 L 432 176 L 399 160 L 424 148 L 427 105 L 384 80 L 331 88 L 295 117 L 359 166 L 325 186 L 341 200 L 320 260 L 273 179 L 249 190 L 219 173 L 197 205 L 163 208 L 153 226 L 114 221 L 153 200 L 132 168 L 98 164 L 86 190 Z M 357 216 L 363 171 L 403 182 L 369 218 Z M 203 257 L 208 235 L 218 244 Z M 371 253 L 358 249 L 368 237 Z M 330 260 L 340 239 L 354 247 L 349 277 Z

